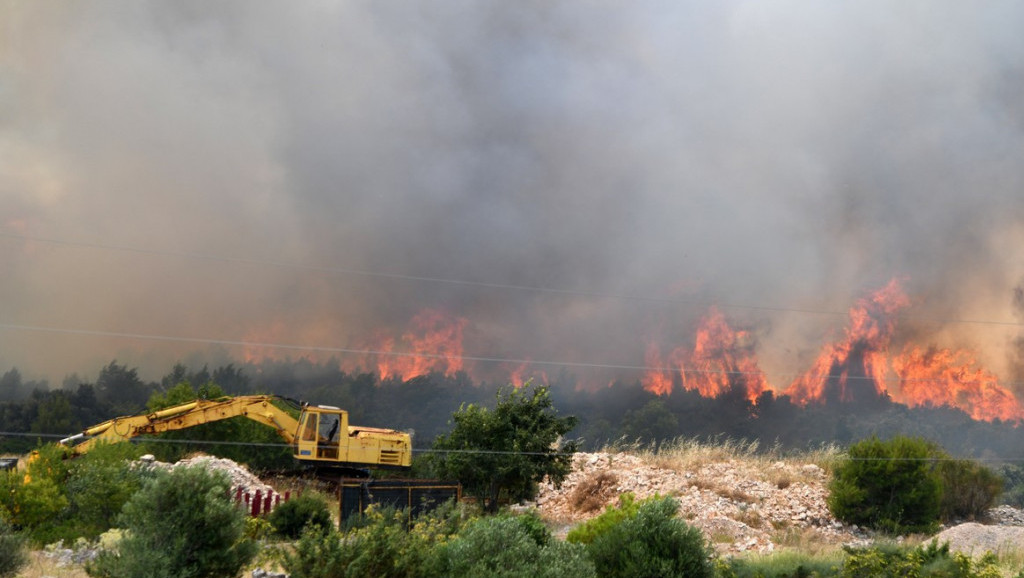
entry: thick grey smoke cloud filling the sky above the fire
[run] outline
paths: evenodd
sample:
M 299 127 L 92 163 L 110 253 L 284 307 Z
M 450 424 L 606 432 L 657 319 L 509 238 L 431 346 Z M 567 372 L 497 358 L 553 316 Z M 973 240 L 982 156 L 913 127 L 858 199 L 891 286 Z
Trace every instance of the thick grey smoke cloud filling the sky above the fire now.
M 0 10 L 0 323 L 345 347 L 432 307 L 641 365 L 718 303 L 784 384 L 844 322 L 801 312 L 905 277 L 902 338 L 1013 373 L 1019 327 L 953 322 L 1017 320 L 1019 3 Z M 0 330 L 57 380 L 239 354 Z

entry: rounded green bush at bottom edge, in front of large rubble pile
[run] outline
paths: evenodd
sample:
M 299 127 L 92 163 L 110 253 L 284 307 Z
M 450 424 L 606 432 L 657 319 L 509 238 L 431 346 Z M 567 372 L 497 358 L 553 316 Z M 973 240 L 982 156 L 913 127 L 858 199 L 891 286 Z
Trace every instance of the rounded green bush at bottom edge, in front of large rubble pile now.
M 675 499 L 644 501 L 635 517 L 597 535 L 587 547 L 599 576 L 711 577 L 712 551 L 698 530 L 676 518 Z

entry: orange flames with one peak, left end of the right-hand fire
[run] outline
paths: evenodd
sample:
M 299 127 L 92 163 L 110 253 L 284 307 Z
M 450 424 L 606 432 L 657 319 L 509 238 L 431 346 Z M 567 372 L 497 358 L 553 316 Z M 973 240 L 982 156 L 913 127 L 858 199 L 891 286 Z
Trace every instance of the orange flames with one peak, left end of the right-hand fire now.
M 684 389 L 706 398 L 717 398 L 739 387 L 748 400 L 756 402 L 769 389 L 768 380 L 758 366 L 754 344 L 746 331 L 735 331 L 717 307 L 711 307 L 700 320 L 692 353 L 677 347 L 669 356 L 672 372 L 663 368 L 656 346 L 645 355 L 647 370 L 641 382 L 648 391 L 659 396 L 672 393 L 672 373 L 677 372 Z

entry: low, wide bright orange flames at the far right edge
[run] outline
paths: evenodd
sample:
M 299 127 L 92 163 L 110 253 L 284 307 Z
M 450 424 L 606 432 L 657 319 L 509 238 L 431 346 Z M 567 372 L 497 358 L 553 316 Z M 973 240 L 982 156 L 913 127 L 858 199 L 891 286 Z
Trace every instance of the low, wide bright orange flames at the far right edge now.
M 893 360 L 900 379 L 899 402 L 909 407 L 948 406 L 979 420 L 1024 419 L 1017 398 L 998 384 L 995 375 L 977 368 L 966 349 L 907 346 Z

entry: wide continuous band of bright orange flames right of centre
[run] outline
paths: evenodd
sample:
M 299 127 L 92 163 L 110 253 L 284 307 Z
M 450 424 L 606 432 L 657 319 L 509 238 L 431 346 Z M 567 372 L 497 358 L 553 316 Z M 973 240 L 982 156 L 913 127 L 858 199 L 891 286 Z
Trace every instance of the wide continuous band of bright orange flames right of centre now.
M 898 280 L 858 299 L 843 335 L 825 343 L 813 365 L 784 389 L 768 383 L 753 347 L 744 344 L 744 332 L 731 329 L 713 308 L 692 350 L 676 348 L 663 360 L 656 348 L 648 349 L 647 364 L 655 369 L 644 376 L 644 387 L 668 395 L 678 382 L 710 397 L 740 387 L 755 403 L 772 390 L 803 406 L 889 397 L 909 407 L 961 409 L 979 420 L 1024 419 L 1017 398 L 977 366 L 972 352 L 915 344 L 892 350 L 897 314 L 909 303 Z

